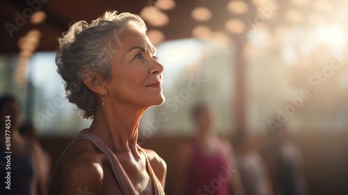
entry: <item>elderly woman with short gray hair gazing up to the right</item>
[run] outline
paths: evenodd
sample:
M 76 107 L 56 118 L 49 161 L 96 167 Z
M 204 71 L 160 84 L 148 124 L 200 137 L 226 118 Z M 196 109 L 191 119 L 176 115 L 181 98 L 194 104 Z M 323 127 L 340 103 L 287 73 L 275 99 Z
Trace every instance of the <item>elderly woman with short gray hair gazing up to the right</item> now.
M 164 194 L 166 163 L 136 143 L 144 111 L 164 102 L 163 66 L 145 33 L 141 17 L 113 11 L 59 39 L 68 99 L 93 123 L 65 149 L 49 194 Z

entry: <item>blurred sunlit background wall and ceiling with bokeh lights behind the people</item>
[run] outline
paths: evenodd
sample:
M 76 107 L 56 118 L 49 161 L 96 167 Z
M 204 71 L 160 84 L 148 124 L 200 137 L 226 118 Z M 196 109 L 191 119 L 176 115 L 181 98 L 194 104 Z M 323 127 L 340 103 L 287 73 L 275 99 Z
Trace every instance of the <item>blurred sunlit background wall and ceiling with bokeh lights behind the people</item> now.
M 65 99 L 54 64 L 70 22 L 105 10 L 137 13 L 164 65 L 166 102 L 145 112 L 139 144 L 168 164 L 194 134 L 197 102 L 214 105 L 216 132 L 240 130 L 262 150 L 286 125 L 301 148 L 311 194 L 348 194 L 348 2 L 343 0 L 4 0 L 0 3 L 0 94 L 21 104 L 55 164 L 90 125 Z

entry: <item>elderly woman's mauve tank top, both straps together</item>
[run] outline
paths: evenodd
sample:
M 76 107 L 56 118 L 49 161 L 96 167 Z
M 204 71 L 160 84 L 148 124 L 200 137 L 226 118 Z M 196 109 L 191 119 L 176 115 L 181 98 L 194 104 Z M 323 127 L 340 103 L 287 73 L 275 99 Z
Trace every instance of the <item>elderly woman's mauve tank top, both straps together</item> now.
M 95 134 L 91 134 L 87 132 L 86 130 L 82 130 L 79 132 L 75 137 L 72 143 L 67 147 L 67 149 L 77 140 L 79 139 L 87 139 L 88 141 L 92 142 L 95 147 L 97 147 L 102 153 L 108 157 L 109 162 L 111 164 L 111 168 L 113 170 L 113 174 L 116 177 L 116 180 L 118 184 L 120 185 L 120 189 L 123 195 L 137 195 L 136 190 L 134 189 L 134 186 L 132 185 L 132 182 L 129 180 L 127 173 L 125 172 L 125 169 L 122 168 L 122 165 L 118 161 L 116 155 L 111 151 L 111 149 L 106 146 L 106 143 L 102 141 L 99 137 L 97 137 Z M 143 151 L 142 148 L 140 148 L 139 145 L 137 145 L 138 149 L 141 150 L 141 152 L 145 155 L 146 158 L 146 165 L 148 166 L 148 171 L 150 173 L 150 176 L 152 178 L 153 188 L 155 191 L 155 195 L 163 195 L 164 189 L 162 188 L 161 182 L 159 182 L 157 176 L 155 175 L 155 172 L 152 170 L 152 167 L 150 165 L 148 156 L 146 155 L 145 151 Z M 65 149 L 65 150 L 67 150 Z M 65 152 L 65 151 L 64 151 Z M 54 173 L 56 170 L 54 170 Z

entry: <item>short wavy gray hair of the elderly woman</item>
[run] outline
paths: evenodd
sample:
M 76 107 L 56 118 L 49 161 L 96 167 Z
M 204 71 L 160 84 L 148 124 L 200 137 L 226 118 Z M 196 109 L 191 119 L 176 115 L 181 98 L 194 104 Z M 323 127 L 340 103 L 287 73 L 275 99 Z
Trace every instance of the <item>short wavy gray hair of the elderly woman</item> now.
M 79 21 L 70 26 L 68 31 L 58 38 L 59 49 L 56 54 L 57 72 L 63 78 L 69 102 L 82 110 L 83 118 L 93 118 L 100 102 L 93 91 L 82 81 L 85 69 L 101 75 L 106 81 L 111 77 L 111 63 L 115 52 L 115 41 L 125 29 L 146 33 L 145 22 L 131 13 L 107 11 L 90 24 Z M 150 49 L 155 47 L 148 41 Z

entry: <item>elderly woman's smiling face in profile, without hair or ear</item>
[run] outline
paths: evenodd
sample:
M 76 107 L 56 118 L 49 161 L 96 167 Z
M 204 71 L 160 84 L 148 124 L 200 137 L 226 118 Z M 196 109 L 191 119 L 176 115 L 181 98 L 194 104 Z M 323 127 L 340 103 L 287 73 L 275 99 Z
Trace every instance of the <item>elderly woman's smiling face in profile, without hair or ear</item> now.
M 107 88 L 113 100 L 145 107 L 164 102 L 162 94 L 163 66 L 158 63 L 147 43 L 147 37 L 125 30 L 116 40 Z

